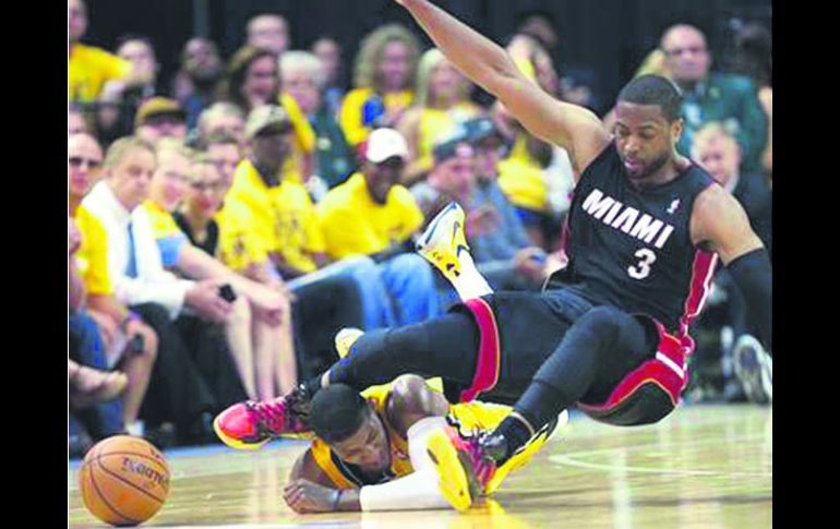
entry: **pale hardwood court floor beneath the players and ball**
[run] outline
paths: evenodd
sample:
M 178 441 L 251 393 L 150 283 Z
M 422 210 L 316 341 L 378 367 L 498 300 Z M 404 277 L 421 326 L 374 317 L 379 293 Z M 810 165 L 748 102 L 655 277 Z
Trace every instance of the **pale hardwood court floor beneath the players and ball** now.
M 768 528 L 772 527 L 772 408 L 689 406 L 659 424 L 572 422 L 512 474 L 492 501 L 447 510 L 300 516 L 283 484 L 303 442 L 260 452 L 172 450 L 171 490 L 145 526 L 268 529 Z M 70 527 L 101 527 L 68 467 Z

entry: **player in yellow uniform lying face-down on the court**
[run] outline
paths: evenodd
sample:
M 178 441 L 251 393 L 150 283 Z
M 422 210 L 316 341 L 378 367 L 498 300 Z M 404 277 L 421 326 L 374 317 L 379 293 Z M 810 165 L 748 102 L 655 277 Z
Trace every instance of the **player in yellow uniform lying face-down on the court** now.
M 515 460 L 495 470 L 487 490 L 475 476 L 491 471 L 481 465 L 465 466 L 468 490 L 447 489 L 439 478 L 437 459 L 449 452 L 435 446 L 441 442 L 436 432 L 446 429 L 469 443 L 500 424 L 511 408 L 477 400 L 449 405 L 432 385 L 408 374 L 361 394 L 344 384 L 319 392 L 307 420 L 317 437 L 291 470 L 284 492 L 289 507 L 298 513 L 463 510 L 480 494 L 494 492 L 567 420 L 564 413 L 538 432 Z

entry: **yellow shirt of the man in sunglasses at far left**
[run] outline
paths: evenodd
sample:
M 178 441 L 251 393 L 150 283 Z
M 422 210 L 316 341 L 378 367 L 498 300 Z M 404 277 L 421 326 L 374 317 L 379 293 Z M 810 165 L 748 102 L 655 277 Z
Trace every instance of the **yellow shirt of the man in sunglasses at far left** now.
M 76 208 L 73 219 L 82 233 L 82 244 L 75 253 L 75 260 L 87 293 L 113 293 L 113 285 L 108 276 L 108 233 L 105 227 L 83 206 Z

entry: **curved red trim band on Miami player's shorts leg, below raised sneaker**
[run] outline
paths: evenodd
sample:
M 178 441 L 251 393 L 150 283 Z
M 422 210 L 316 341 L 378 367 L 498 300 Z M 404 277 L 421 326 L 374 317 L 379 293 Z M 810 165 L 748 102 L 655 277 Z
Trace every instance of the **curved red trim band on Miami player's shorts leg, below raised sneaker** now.
M 464 302 L 472 312 L 479 328 L 478 361 L 472 385 L 460 393 L 461 402 L 468 402 L 482 392 L 495 387 L 499 382 L 500 362 L 502 360 L 499 326 L 495 315 L 487 301 L 476 298 Z

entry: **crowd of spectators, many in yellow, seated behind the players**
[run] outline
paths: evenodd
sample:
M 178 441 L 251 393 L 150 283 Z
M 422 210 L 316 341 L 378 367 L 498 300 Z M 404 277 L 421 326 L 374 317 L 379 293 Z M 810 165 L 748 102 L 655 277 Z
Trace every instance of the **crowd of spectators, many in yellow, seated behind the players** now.
M 261 13 L 228 58 L 185 35 L 164 83 L 149 38 L 85 45 L 83 0 L 68 0 L 68 21 L 73 454 L 115 433 L 213 442 L 221 409 L 332 363 L 340 328 L 444 312 L 456 294 L 413 241 L 451 201 L 494 288 L 539 289 L 565 263 L 572 154 L 501 104 L 477 103 L 406 27 L 369 34 L 344 86 L 350 58 L 335 39 L 295 49 L 288 21 Z M 586 89 L 564 89 L 556 43 L 549 21 L 530 17 L 506 45 L 535 83 L 585 105 Z M 683 89 L 679 148 L 744 204 L 770 248 L 769 33 L 749 25 L 736 46 L 737 72 L 712 71 L 704 34 L 680 24 L 639 72 Z M 720 368 L 699 370 L 695 396 L 713 394 L 718 376 L 720 395 L 743 399 L 728 359 L 752 330 L 748 308 L 725 275 L 716 285 L 697 356 Z

